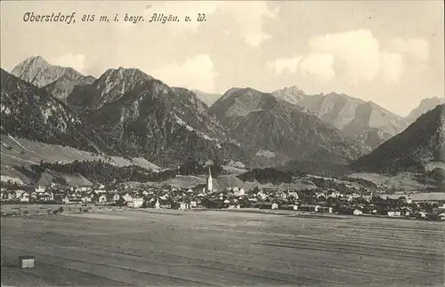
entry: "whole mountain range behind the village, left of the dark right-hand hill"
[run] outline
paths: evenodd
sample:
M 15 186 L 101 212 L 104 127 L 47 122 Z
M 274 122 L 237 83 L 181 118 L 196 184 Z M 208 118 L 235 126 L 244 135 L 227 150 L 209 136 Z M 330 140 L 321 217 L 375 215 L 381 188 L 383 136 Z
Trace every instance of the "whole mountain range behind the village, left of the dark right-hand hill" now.
M 411 117 L 432 106 L 425 101 Z M 164 167 L 213 159 L 314 172 L 350 163 L 361 169 L 372 149 L 407 128 L 408 118 L 295 86 L 272 93 L 231 88 L 220 96 L 170 87 L 138 68 L 109 68 L 96 79 L 41 57 L 11 74 L 2 70 L 2 134 Z

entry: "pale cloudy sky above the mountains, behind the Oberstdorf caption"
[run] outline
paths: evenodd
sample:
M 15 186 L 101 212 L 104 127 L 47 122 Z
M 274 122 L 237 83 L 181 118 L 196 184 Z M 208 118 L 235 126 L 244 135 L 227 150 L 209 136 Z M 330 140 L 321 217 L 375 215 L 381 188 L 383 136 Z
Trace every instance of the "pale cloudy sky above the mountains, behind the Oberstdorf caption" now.
M 2 1 L 1 67 L 40 55 L 101 76 L 140 68 L 166 84 L 223 93 L 295 85 L 407 116 L 444 97 L 443 1 Z M 75 23 L 24 21 L 76 12 Z M 150 22 L 154 13 L 178 22 Z M 198 13 L 206 21 L 197 21 Z M 94 14 L 93 22 L 82 21 Z M 118 21 L 114 21 L 117 14 Z M 125 14 L 144 21 L 125 21 Z M 109 22 L 99 21 L 100 16 Z M 189 16 L 191 21 L 186 21 Z

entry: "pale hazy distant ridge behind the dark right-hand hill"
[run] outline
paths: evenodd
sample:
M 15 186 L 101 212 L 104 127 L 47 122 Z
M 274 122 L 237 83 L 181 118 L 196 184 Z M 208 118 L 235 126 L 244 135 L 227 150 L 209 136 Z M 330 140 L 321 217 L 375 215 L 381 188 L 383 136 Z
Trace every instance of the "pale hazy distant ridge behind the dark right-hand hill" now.
M 290 96 L 283 96 L 283 91 L 285 89 L 274 92 L 274 95 L 292 104 L 308 108 L 325 123 L 332 124 L 342 131 L 345 136 L 360 140 L 370 148 L 378 147 L 408 126 L 403 118 L 375 103 L 345 94 L 331 92 L 303 96 L 303 92 L 297 92 L 302 96 L 289 98 Z

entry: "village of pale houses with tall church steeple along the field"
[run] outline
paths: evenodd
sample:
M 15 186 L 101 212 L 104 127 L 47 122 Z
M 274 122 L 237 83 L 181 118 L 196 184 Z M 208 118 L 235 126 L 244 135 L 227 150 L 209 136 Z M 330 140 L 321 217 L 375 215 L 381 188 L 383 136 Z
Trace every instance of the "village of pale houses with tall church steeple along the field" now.
M 421 196 L 433 195 L 433 196 Z M 445 219 L 445 194 L 408 196 L 360 195 L 327 189 L 324 191 L 262 188 L 251 190 L 213 187 L 209 172 L 206 184 L 194 188 L 128 187 L 98 185 L 65 187 L 57 184 L 28 188 L 2 187 L 1 203 L 95 204 L 154 209 L 266 209 L 345 215 L 376 215 L 410 219 Z

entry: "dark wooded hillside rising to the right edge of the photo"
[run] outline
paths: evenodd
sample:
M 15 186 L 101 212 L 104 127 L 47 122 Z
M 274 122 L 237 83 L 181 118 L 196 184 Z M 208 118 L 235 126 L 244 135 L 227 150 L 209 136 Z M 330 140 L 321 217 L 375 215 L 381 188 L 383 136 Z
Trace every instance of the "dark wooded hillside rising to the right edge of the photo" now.
M 420 116 L 400 134 L 352 163 L 355 171 L 397 172 L 445 162 L 445 105 Z

